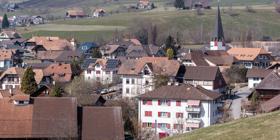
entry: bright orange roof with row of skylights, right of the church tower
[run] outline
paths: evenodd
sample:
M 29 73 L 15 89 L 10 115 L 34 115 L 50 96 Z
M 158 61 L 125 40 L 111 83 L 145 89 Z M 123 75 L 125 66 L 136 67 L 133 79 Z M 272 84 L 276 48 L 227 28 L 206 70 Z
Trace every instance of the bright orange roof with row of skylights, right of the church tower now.
M 227 51 L 227 53 L 231 54 L 231 56 L 233 56 L 235 54 L 235 57 L 240 61 L 254 61 L 254 59 L 257 58 L 259 54 L 270 55 L 268 52 L 266 52 L 262 48 L 231 48 Z M 241 56 L 241 54 L 242 54 L 242 56 Z

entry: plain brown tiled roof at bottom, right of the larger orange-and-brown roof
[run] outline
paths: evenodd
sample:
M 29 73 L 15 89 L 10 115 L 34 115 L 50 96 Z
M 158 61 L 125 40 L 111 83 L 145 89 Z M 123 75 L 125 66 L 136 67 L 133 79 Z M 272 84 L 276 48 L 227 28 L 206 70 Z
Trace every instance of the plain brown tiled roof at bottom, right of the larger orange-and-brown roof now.
M 124 139 L 121 107 L 78 107 L 82 139 Z

